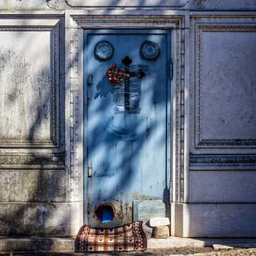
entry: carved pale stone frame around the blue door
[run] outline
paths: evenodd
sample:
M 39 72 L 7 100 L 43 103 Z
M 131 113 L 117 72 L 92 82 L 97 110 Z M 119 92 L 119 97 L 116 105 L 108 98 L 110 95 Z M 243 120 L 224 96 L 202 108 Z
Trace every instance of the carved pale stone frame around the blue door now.
M 170 29 L 172 79 L 172 172 L 170 185 L 171 234 L 175 235 L 175 205 L 189 200 L 189 11 L 172 10 L 67 10 L 65 13 L 65 145 L 67 198 L 79 220 L 71 220 L 76 233 L 84 220 L 83 154 L 83 29 Z M 176 207 L 179 208 L 179 207 Z M 177 214 L 179 214 L 177 212 Z

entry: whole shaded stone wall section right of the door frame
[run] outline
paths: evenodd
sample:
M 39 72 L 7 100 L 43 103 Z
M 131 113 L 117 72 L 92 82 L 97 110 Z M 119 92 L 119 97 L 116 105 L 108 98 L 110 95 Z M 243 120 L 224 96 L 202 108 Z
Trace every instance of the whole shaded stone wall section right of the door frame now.
M 190 17 L 189 223 L 183 235 L 256 236 L 255 13 Z

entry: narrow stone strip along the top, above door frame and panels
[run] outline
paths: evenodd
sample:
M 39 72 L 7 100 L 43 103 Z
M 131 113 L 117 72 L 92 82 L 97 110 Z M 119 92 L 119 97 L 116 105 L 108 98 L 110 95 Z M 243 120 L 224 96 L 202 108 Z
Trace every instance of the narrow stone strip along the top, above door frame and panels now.
M 199 11 L 252 11 L 254 0 L 1 0 L 0 10 L 67 10 L 81 8 L 153 8 Z

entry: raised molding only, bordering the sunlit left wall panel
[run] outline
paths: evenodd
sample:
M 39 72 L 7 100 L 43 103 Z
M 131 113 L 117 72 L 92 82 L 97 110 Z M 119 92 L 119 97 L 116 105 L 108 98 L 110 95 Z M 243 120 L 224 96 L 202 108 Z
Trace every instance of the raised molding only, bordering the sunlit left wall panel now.
M 0 148 L 58 148 L 61 147 L 60 131 L 60 22 L 59 20 L 18 19 L 12 16 L 10 22 L 5 19 L 6 14 L 0 15 L 1 31 L 51 31 L 51 63 L 52 69 L 52 98 L 51 98 L 51 139 L 50 140 L 1 140 Z M 34 17 L 36 19 L 36 17 Z M 20 25 L 22 24 L 22 25 Z M 24 24 L 24 25 L 23 25 Z

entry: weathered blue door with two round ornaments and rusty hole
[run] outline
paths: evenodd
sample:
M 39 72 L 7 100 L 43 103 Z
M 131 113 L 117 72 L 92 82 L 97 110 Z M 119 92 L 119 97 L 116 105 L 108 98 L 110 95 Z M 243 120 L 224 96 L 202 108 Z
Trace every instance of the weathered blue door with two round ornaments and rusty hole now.
M 93 227 L 132 221 L 133 200 L 168 204 L 170 45 L 166 30 L 84 30 L 84 217 Z

